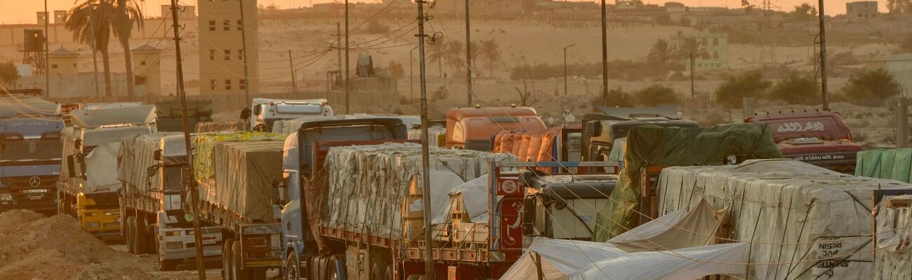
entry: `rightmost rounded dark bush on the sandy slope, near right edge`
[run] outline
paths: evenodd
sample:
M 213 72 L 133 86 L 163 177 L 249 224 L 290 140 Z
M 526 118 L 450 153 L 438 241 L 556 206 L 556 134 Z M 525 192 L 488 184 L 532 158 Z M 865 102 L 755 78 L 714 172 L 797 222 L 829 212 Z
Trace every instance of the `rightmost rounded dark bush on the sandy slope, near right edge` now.
M 852 75 L 843 88 L 843 94 L 856 105 L 879 106 L 884 101 L 899 95 L 901 86 L 896 78 L 884 68 L 865 70 Z

